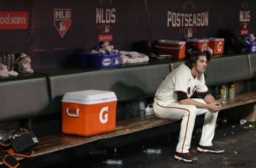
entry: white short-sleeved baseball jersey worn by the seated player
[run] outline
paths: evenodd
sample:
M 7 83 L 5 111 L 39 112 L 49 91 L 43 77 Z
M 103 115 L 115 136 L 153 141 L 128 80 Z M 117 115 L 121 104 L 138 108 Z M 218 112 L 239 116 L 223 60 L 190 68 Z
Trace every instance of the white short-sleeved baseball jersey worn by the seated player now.
M 195 91 L 206 93 L 204 73 L 193 77 L 187 65 L 181 64 L 178 68 L 169 73 L 158 87 L 155 94 L 155 102 L 177 103 L 177 91 L 186 93 L 190 98 Z

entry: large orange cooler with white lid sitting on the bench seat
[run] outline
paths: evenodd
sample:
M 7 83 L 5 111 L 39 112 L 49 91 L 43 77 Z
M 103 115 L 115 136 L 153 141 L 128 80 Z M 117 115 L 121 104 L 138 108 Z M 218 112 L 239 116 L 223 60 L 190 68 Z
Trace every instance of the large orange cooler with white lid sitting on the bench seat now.
M 62 132 L 93 136 L 116 128 L 117 98 L 113 91 L 83 90 L 62 98 Z

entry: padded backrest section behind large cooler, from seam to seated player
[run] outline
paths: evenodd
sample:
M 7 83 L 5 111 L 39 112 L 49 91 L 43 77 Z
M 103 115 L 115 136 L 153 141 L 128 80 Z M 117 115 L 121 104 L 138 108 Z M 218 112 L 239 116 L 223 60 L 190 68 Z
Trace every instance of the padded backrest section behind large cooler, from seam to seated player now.
M 52 113 L 61 112 L 62 96 L 70 91 L 114 91 L 118 101 L 154 96 L 169 63 L 146 63 L 105 69 L 37 70 L 49 80 Z

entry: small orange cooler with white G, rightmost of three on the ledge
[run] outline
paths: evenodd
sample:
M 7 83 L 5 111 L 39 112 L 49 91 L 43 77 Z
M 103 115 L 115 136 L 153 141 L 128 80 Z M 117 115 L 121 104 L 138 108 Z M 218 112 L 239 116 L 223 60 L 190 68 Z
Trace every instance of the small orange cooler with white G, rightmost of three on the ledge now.
M 213 50 L 213 55 L 222 55 L 224 50 L 223 38 L 209 38 L 209 47 Z

